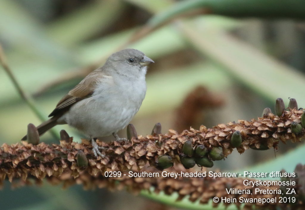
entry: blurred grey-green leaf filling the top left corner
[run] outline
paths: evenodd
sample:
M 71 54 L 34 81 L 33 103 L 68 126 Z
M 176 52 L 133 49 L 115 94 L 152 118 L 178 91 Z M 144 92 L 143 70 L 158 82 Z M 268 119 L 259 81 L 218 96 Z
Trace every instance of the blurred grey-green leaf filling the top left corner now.
M 15 1 L 2 0 L 0 6 L 0 37 L 16 52 L 56 58 L 58 61 L 74 62 L 73 53 L 52 42 L 35 20 Z

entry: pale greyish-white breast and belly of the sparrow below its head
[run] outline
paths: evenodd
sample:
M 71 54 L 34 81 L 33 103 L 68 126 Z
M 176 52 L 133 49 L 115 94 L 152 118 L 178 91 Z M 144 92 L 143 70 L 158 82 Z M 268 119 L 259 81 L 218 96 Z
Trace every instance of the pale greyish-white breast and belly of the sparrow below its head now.
M 131 82 L 102 78 L 94 94 L 73 105 L 59 121 L 87 136 L 108 136 L 128 125 L 138 112 L 145 93 L 145 76 Z

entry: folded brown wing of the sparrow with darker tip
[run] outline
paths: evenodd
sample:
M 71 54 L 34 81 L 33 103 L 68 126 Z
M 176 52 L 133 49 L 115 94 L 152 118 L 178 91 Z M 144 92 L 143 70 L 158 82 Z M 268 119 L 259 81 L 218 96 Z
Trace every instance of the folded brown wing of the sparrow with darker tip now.
M 49 117 L 56 115 L 59 112 L 68 110 L 74 103 L 88 98 L 94 92 L 94 87 L 99 81 L 99 78 L 103 77 L 101 71 L 92 71 L 88 74 L 78 85 L 69 91 L 56 105 L 56 108 L 52 111 Z

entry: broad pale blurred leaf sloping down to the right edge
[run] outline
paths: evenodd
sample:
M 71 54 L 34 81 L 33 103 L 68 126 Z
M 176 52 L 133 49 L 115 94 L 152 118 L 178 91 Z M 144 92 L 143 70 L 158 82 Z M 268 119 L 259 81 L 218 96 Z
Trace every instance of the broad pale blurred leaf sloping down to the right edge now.
M 245 42 L 218 29 L 199 30 L 179 23 L 180 31 L 202 55 L 226 69 L 239 82 L 275 103 L 277 97 L 305 104 L 305 76 Z M 286 86 L 286 88 L 283 88 Z M 288 104 L 288 103 L 287 103 Z

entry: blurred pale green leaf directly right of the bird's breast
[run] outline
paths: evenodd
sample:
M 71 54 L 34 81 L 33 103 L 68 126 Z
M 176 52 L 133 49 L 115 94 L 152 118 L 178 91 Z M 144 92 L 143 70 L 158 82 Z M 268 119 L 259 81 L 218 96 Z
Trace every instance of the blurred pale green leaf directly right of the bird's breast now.
M 136 117 L 172 110 L 198 85 L 220 92 L 231 84 L 217 66 L 208 63 L 194 63 L 153 74 L 146 81 L 147 93 Z

